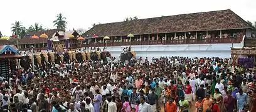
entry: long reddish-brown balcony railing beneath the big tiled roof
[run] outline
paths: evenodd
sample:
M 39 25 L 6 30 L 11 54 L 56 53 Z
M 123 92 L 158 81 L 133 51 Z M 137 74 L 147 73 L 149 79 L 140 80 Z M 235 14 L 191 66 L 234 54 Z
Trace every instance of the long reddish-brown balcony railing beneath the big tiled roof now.
M 108 42 L 84 44 L 83 47 L 105 47 L 121 45 L 178 45 L 178 44 L 230 44 L 240 43 L 242 38 L 178 39 L 178 40 L 143 40 L 132 42 Z

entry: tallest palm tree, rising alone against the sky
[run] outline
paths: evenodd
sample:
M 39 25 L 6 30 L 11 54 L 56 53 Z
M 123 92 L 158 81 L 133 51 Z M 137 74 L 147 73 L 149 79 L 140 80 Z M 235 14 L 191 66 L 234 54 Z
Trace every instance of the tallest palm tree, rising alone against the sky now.
M 58 14 L 56 17 L 57 19 L 56 21 L 53 21 L 53 26 L 56 26 L 57 29 L 65 30 L 67 27 L 67 21 L 65 21 L 66 17 L 64 17 L 61 13 Z

